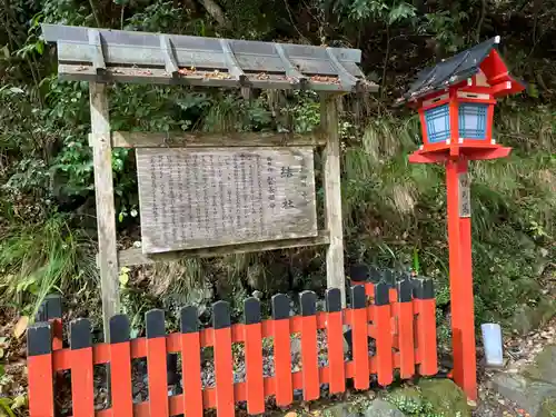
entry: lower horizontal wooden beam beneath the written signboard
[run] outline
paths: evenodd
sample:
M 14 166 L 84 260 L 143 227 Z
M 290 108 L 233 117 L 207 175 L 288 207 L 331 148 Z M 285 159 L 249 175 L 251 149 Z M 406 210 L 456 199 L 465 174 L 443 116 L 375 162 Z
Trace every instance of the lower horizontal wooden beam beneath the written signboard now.
M 129 248 L 120 250 L 118 254 L 118 261 L 122 267 L 133 265 L 146 265 L 161 261 L 179 260 L 186 257 L 216 257 L 230 254 L 247 254 L 258 252 L 265 250 L 277 250 L 288 248 L 300 248 L 304 246 L 318 246 L 328 245 L 329 237 L 328 230 L 319 230 L 318 236 L 300 239 L 284 239 L 284 240 L 269 240 L 255 244 L 228 245 L 214 248 L 200 248 L 179 250 L 166 254 L 145 255 L 141 248 Z

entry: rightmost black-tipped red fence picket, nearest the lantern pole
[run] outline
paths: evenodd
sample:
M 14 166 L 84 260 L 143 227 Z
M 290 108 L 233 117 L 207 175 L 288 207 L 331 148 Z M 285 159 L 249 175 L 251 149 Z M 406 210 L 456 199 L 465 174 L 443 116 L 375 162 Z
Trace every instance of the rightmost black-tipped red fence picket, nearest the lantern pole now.
M 435 375 L 437 366 L 435 288 L 431 279 L 418 281 L 417 344 L 420 351 L 420 375 Z

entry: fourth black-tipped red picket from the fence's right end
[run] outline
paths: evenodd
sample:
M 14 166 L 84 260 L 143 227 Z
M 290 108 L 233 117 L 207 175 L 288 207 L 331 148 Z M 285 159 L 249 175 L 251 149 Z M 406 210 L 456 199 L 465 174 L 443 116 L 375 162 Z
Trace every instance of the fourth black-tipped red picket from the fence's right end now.
M 351 338 L 354 349 L 354 386 L 369 388 L 369 341 L 367 324 L 367 299 L 365 287 L 351 287 Z

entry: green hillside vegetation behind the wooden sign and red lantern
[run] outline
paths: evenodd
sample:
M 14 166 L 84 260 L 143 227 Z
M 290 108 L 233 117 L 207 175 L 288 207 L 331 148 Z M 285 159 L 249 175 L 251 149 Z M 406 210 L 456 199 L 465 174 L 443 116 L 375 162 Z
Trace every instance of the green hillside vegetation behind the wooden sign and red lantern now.
M 76 314 L 100 312 L 88 86 L 57 80 L 40 22 L 360 48 L 381 92 L 341 106 L 346 264 L 434 277 L 439 307 L 449 300 L 444 170 L 407 162 L 419 143 L 418 121 L 390 103 L 423 66 L 500 34 L 528 88 L 497 109 L 496 138 L 515 148 L 512 157 L 471 167 L 474 274 L 477 319 L 509 318 L 516 304 L 536 302 L 554 276 L 556 4 L 537 3 L 2 0 L 0 304 L 32 314 L 58 290 Z M 245 101 L 237 91 L 119 85 L 110 106 L 113 130 L 304 132 L 319 121 L 318 99 L 307 92 Z M 119 236 L 130 246 L 139 239 L 132 152 L 115 150 L 112 167 Z M 265 297 L 321 291 L 322 254 L 305 248 L 123 270 L 123 307 L 138 330 L 152 306 L 205 310 L 215 298 L 238 307 L 255 289 Z M 446 320 L 440 309 L 438 319 Z

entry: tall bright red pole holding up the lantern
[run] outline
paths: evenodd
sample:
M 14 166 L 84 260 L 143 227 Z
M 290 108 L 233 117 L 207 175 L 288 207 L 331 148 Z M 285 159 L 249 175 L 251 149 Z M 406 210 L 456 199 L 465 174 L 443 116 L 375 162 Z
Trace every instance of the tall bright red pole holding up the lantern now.
M 467 160 L 446 162 L 454 380 L 477 398 L 471 224 Z

